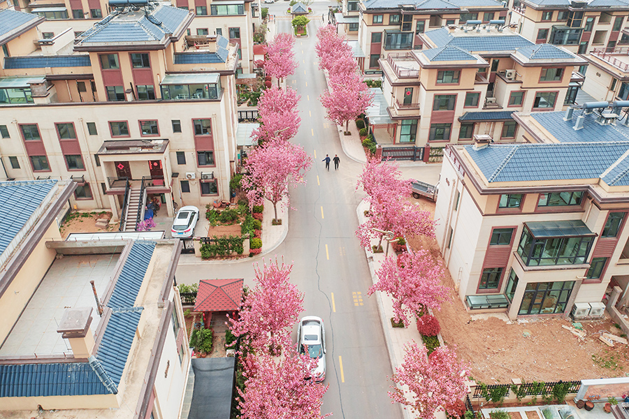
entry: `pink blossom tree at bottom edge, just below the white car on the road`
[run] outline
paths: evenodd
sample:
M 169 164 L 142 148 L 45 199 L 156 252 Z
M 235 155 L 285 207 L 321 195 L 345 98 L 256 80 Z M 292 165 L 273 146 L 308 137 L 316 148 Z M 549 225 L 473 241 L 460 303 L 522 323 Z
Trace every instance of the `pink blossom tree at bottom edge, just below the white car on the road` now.
M 322 419 L 322 398 L 327 385 L 305 379 L 317 360 L 298 355 L 293 349 L 274 360 L 269 355 L 245 358 L 245 391 L 240 395 L 240 418 L 243 419 Z

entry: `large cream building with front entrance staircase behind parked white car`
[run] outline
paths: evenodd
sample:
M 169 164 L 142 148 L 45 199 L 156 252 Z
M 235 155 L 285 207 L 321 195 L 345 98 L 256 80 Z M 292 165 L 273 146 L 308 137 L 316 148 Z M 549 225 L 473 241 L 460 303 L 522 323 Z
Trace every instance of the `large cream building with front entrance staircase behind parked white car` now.
M 171 216 L 173 202 L 229 198 L 238 161 L 238 45 L 189 44 L 188 10 L 136 9 L 115 10 L 76 41 L 70 29 L 40 40 L 41 17 L 0 10 L 6 177 L 73 177 L 78 209 L 111 210 L 130 229 L 147 196 Z

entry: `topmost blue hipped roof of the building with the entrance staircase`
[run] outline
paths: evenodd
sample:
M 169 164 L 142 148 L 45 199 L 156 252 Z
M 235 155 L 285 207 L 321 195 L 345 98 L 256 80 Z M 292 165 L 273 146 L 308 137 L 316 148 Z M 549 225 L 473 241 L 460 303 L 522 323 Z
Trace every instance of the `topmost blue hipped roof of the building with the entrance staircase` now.
M 165 5 L 159 6 L 149 17 L 138 14 L 137 19 L 129 15 L 122 19 L 109 15 L 83 32 L 80 44 L 161 41 L 166 34 L 175 33 L 187 16 L 187 10 Z

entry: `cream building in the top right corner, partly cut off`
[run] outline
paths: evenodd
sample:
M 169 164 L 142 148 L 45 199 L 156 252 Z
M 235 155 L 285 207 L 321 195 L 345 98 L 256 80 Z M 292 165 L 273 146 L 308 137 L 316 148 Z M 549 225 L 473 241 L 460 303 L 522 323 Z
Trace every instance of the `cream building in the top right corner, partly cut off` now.
M 510 23 L 535 43 L 562 45 L 579 54 L 629 43 L 623 34 L 627 0 L 513 0 L 511 9 Z

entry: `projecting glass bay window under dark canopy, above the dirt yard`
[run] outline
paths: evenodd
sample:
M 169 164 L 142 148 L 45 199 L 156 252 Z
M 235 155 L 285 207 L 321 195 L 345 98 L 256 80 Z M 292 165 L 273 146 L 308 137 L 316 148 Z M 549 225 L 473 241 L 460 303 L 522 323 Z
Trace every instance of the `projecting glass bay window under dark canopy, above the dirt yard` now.
M 586 263 L 594 237 L 533 237 L 524 228 L 518 254 L 527 266 L 580 265 Z

